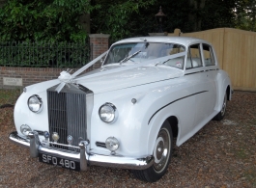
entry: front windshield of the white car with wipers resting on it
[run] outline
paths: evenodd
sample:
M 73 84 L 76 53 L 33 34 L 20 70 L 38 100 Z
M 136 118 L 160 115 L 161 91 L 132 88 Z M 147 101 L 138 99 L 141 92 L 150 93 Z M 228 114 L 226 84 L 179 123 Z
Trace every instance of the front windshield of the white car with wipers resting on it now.
M 156 58 L 185 52 L 185 47 L 177 43 L 131 42 L 111 47 L 104 66 L 110 64 L 142 63 Z M 166 64 L 168 66 L 168 64 Z

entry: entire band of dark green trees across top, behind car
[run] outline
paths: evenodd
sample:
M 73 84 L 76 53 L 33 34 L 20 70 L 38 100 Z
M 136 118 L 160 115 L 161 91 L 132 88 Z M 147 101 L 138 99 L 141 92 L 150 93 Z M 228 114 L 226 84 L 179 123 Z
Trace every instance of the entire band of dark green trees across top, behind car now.
M 217 27 L 255 30 L 256 0 L 9 0 L 0 9 L 2 40 L 85 40 L 79 18 L 91 13 L 91 32 L 111 40 L 156 32 L 159 7 L 163 30 L 195 32 Z

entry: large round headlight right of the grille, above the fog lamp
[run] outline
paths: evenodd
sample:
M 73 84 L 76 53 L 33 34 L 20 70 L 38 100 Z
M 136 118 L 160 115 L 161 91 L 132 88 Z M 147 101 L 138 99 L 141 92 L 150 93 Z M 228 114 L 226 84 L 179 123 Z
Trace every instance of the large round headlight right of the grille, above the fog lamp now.
M 100 106 L 100 120 L 104 122 L 114 122 L 117 119 L 117 108 L 111 103 L 105 103 Z

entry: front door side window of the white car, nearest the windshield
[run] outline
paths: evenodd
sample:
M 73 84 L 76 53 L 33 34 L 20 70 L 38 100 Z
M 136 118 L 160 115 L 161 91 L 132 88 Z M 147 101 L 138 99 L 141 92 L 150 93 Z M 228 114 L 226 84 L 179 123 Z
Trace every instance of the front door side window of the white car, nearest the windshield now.
M 185 68 L 202 67 L 202 59 L 200 54 L 200 44 L 190 45 L 187 51 L 187 59 Z

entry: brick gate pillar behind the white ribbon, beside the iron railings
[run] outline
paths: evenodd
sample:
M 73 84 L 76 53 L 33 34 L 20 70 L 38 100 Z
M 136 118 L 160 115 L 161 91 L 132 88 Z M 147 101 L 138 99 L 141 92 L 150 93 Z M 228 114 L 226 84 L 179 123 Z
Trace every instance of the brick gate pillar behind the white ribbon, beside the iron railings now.
M 98 56 L 100 56 L 100 54 L 102 54 L 103 52 L 105 52 L 108 49 L 108 40 L 110 35 L 107 34 L 91 34 L 89 35 L 90 37 L 90 44 L 91 44 L 91 55 L 93 57 L 91 57 L 91 59 L 95 59 Z M 95 65 L 94 68 L 100 67 L 99 65 Z

